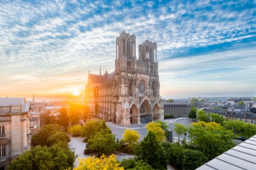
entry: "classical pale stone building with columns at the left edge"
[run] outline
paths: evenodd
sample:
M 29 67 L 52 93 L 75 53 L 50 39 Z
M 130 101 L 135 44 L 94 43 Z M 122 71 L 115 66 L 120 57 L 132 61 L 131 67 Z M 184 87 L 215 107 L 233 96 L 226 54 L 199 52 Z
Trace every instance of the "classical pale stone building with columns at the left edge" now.
M 30 110 L 25 98 L 0 98 L 0 170 L 30 149 Z

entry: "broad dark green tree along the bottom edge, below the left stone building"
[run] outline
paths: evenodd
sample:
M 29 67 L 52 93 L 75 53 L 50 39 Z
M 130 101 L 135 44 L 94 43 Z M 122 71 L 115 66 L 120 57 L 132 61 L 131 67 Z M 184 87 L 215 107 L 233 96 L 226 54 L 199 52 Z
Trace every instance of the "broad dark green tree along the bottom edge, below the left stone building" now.
M 67 146 L 36 146 L 13 160 L 8 170 L 65 170 L 74 162 L 75 154 Z

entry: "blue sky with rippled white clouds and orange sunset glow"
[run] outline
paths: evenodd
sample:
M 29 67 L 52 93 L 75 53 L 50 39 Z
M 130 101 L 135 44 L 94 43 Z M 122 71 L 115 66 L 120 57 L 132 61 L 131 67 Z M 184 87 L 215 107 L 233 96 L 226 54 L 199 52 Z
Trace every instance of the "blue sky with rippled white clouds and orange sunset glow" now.
M 157 42 L 162 98 L 256 96 L 255 0 L 0 0 L 0 97 L 82 99 L 123 30 Z

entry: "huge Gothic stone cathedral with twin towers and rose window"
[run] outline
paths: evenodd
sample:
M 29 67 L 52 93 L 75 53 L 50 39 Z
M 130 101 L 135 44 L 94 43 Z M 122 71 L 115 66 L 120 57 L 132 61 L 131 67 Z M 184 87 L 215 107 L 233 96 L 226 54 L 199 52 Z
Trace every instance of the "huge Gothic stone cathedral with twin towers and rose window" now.
M 163 120 L 157 43 L 140 44 L 137 59 L 136 36 L 122 31 L 116 38 L 115 71 L 89 71 L 85 105 L 91 116 L 124 126 Z

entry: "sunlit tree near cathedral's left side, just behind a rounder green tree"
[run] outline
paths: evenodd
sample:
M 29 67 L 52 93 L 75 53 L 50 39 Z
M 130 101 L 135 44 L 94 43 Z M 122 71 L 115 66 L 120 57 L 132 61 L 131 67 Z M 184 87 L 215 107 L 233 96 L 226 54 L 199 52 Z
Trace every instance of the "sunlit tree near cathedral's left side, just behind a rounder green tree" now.
M 94 119 L 87 121 L 85 123 L 85 126 L 83 127 L 81 136 L 86 137 L 88 139 L 93 137 L 96 134 L 96 132 L 99 131 L 98 127 L 100 123 L 101 123 L 100 120 L 94 120 Z

